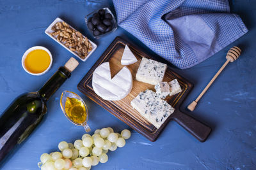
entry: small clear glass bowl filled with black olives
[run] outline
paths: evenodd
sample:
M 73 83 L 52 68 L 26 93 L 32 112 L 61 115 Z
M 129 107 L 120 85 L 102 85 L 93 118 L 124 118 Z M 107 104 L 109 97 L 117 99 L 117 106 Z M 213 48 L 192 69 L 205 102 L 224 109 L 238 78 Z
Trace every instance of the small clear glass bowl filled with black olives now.
M 97 39 L 117 28 L 115 17 L 109 8 L 102 8 L 88 14 L 85 22 L 93 37 Z

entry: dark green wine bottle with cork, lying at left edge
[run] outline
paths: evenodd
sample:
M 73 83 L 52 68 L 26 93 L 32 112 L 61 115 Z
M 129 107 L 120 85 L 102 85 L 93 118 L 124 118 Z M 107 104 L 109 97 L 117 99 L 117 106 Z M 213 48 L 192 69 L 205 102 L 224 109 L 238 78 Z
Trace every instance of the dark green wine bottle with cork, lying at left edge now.
M 40 90 L 20 95 L 6 108 L 0 117 L 0 162 L 41 122 L 47 111 L 46 102 L 71 76 L 78 64 L 79 62 L 71 57 Z

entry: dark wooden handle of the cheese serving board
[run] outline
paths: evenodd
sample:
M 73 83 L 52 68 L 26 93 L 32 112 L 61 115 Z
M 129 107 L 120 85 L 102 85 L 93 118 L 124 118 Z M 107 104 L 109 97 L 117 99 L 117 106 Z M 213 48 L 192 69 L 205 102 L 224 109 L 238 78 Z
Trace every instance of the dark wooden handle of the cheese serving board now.
M 173 113 L 173 120 L 184 127 L 186 131 L 195 136 L 200 142 L 204 142 L 211 133 L 211 127 L 199 122 L 186 113 L 175 111 L 175 113 Z

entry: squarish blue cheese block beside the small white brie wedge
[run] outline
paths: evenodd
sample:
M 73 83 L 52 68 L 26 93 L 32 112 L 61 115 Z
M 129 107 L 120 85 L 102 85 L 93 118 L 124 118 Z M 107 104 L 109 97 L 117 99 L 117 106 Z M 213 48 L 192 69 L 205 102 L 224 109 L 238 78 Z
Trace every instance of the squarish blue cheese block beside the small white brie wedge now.
M 142 58 L 140 67 L 136 73 L 136 80 L 156 85 L 163 81 L 167 65 L 155 60 Z

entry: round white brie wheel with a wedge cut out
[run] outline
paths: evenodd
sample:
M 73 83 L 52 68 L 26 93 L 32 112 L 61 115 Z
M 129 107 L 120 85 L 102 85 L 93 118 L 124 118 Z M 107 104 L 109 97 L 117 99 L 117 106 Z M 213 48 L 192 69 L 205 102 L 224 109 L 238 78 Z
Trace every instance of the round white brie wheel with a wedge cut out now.
M 131 71 L 127 67 L 123 67 L 111 79 L 109 62 L 104 62 L 93 72 L 92 87 L 94 92 L 104 100 L 121 100 L 131 92 Z

